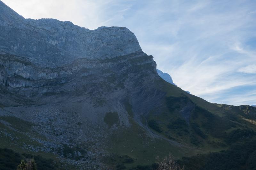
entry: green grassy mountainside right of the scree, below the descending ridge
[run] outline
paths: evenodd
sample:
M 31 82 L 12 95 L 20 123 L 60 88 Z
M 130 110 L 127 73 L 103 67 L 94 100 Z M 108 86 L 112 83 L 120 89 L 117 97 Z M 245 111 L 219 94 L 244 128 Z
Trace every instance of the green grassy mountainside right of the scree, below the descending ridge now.
M 109 167 L 115 168 L 117 164 L 124 164 L 127 168 L 150 165 L 156 161 L 157 155 L 163 157 L 169 152 L 172 152 L 176 158 L 190 157 L 198 153 L 220 152 L 237 142 L 229 140 L 232 135 L 247 133 L 250 130 L 256 131 L 256 126 L 246 121 L 241 113 L 230 112 L 218 104 L 190 95 L 162 79 L 154 85 L 166 92 L 166 99 L 163 100 L 165 106 L 160 114 L 154 114 L 152 111 L 145 118 L 144 124 L 148 126 L 148 121 L 155 121 L 158 129 L 154 126 L 149 129 L 158 138 L 149 137 L 146 129 L 131 118 L 131 129 L 119 129 L 121 132 L 116 132 L 111 138 L 109 151 L 113 152 L 113 156 L 112 159 L 105 160 Z M 168 100 L 171 103 L 170 101 L 168 103 Z M 187 103 L 194 104 L 195 108 L 191 111 L 189 122 L 186 124 L 180 110 Z M 132 109 L 127 107 L 126 110 L 132 115 L 130 113 Z M 170 124 L 175 126 L 168 126 Z M 247 138 L 251 140 L 249 136 Z M 133 162 L 125 163 L 124 159 L 120 159 L 124 158 L 124 155 L 131 157 Z

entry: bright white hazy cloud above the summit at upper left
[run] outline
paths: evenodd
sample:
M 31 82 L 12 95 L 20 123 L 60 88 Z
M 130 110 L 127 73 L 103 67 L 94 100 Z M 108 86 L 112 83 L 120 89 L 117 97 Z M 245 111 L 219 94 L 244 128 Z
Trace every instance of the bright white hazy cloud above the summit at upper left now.
M 129 4 L 115 4 L 114 0 L 3 0 L 3 2 L 24 18 L 56 18 L 89 29 L 104 26 L 111 20 L 122 20 L 122 14 L 131 8 Z

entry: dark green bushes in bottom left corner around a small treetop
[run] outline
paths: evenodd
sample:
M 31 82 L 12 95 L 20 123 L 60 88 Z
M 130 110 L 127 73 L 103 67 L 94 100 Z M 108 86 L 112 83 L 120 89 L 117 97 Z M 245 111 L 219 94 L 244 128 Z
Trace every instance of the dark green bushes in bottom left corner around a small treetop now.
M 0 169 L 1 170 L 16 170 L 20 164 L 21 159 L 34 158 L 38 170 L 52 170 L 58 169 L 58 164 L 54 163 L 52 159 L 45 159 L 39 155 L 19 154 L 11 149 L 0 148 Z

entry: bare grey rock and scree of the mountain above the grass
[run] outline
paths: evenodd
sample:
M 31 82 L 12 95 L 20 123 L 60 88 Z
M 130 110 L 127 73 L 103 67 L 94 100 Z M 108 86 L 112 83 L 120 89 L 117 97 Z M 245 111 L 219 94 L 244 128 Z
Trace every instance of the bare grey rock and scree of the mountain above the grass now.
M 73 153 L 57 152 L 63 144 L 86 146 L 80 164 L 98 167 L 92 158 L 106 152 L 113 130 L 129 128 L 131 118 L 145 126 L 142 117 L 161 107 L 165 92 L 151 84 L 160 79 L 156 63 L 127 28 L 25 19 L 0 1 L 0 32 L 0 115 L 33 123 L 49 139 L 26 132 L 39 145 L 18 147 L 68 160 Z

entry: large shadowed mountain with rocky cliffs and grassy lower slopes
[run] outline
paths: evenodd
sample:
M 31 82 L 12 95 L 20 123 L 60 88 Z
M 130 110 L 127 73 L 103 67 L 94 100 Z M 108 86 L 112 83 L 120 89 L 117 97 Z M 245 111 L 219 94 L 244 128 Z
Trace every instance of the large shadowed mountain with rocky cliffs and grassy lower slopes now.
M 255 139 L 255 107 L 209 103 L 164 81 L 127 28 L 25 19 L 0 1 L 0 33 L 5 169 L 24 157 L 38 170 L 153 169 L 169 152 L 193 169 L 193 155 L 210 160 Z

